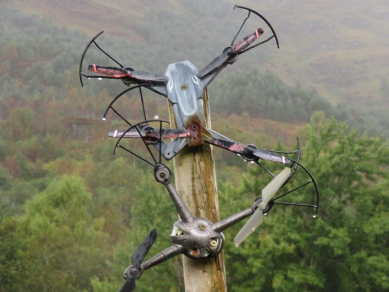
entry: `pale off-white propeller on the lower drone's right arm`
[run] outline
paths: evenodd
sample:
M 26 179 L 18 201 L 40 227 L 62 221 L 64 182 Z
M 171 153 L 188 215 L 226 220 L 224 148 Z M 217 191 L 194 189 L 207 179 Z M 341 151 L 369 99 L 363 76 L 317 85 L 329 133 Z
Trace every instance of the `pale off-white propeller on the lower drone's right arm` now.
M 253 232 L 264 220 L 264 211 L 267 209 L 267 205 L 273 199 L 273 196 L 277 191 L 283 186 L 283 183 L 289 178 L 291 169 L 285 167 L 270 183 L 268 183 L 262 189 L 262 200 L 258 204 L 258 208 L 251 215 L 250 219 L 238 232 L 234 238 L 235 246 L 238 247 L 239 244 L 243 242 L 250 234 Z M 267 210 L 266 210 L 267 211 Z

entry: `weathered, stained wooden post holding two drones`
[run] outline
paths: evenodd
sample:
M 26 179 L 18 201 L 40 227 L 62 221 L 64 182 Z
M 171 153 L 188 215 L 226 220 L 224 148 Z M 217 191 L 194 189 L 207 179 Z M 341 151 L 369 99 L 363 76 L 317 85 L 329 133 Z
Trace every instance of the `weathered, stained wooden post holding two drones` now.
M 211 128 L 207 89 L 204 90 L 203 105 L 206 126 Z M 177 127 L 170 105 L 169 118 L 172 127 Z M 185 147 L 173 161 L 177 192 L 192 215 L 212 222 L 219 221 L 219 201 L 212 146 L 204 144 Z M 199 260 L 187 256 L 182 256 L 182 258 L 186 292 L 227 291 L 223 252 L 217 258 Z

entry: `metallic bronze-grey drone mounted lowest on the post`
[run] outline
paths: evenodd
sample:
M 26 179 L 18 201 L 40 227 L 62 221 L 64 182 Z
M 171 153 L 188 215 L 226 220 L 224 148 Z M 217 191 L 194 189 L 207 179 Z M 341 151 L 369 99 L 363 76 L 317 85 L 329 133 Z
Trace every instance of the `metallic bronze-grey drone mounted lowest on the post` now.
M 153 121 L 147 122 L 151 123 Z M 158 122 L 160 125 L 158 129 L 159 135 L 162 135 L 164 130 L 162 128 L 162 123 L 167 122 Z M 139 131 L 139 133 L 141 132 L 140 125 L 134 125 L 132 128 Z M 159 151 L 159 157 L 156 157 L 151 151 L 146 137 L 141 136 L 141 139 L 146 148 L 149 150 L 152 160 L 148 161 L 144 157 L 138 155 L 137 157 L 153 166 L 154 178 L 158 183 L 165 186 L 177 209 L 179 219 L 173 224 L 173 229 L 170 234 L 170 239 L 173 244 L 145 262 L 142 262 L 147 254 L 147 251 L 154 243 L 157 237 L 157 232 L 154 229 L 149 236 L 146 237 L 140 248 L 132 257 L 132 265 L 128 266 L 124 270 L 123 277 L 126 281 L 124 282 L 121 292 L 133 291 L 136 287 L 135 279 L 141 277 L 145 270 L 148 270 L 172 258 L 173 256 L 183 254 L 192 259 L 217 257 L 222 252 L 225 245 L 223 231 L 251 216 L 234 238 L 234 244 L 238 247 L 260 224 L 262 224 L 264 215 L 266 215 L 275 204 L 314 207 L 316 208 L 315 214 L 317 213 L 318 201 L 316 204 L 278 202 L 280 198 L 291 192 L 287 191 L 275 197 L 278 190 L 288 181 L 292 172 L 290 167 L 284 167 L 283 170 L 262 189 L 262 196 L 254 200 L 252 205 L 247 209 L 217 222 L 212 222 L 205 218 L 194 217 L 171 182 L 172 171 L 165 164 L 161 163 L 161 152 Z M 156 146 L 160 149 L 162 148 L 161 140 L 159 140 L 159 143 Z M 124 148 L 128 152 L 133 153 L 123 146 L 116 145 L 116 147 Z M 302 186 L 303 185 L 300 185 L 298 188 L 301 188 Z

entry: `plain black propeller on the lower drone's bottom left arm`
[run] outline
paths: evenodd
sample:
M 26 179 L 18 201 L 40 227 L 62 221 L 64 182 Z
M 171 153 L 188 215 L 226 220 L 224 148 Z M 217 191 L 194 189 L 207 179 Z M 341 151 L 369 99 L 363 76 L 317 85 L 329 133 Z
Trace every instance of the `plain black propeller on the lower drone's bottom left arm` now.
M 144 241 L 142 242 L 141 246 L 137 249 L 135 254 L 132 256 L 132 267 L 129 270 L 129 273 L 126 274 L 127 278 L 120 292 L 134 291 L 136 287 L 135 278 L 137 278 L 137 274 L 139 273 L 139 270 L 141 268 L 141 263 L 145 258 L 145 256 L 147 255 L 148 251 L 150 250 L 156 238 L 157 238 L 157 230 L 154 228 L 150 232 L 150 234 L 144 239 Z

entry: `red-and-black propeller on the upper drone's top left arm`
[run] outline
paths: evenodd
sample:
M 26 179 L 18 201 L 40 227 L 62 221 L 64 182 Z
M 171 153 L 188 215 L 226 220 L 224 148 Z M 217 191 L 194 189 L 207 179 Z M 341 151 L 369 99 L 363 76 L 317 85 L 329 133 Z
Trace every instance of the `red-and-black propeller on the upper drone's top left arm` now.
M 132 79 L 136 79 L 137 81 L 135 82 L 137 83 L 143 81 L 143 82 L 166 84 L 168 82 L 168 78 L 166 76 L 149 73 L 145 71 L 127 70 L 126 68 L 123 69 L 118 67 L 101 66 L 101 65 L 93 64 L 88 66 L 88 71 L 108 75 L 114 78 L 132 78 Z

